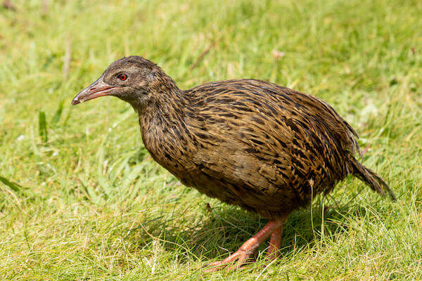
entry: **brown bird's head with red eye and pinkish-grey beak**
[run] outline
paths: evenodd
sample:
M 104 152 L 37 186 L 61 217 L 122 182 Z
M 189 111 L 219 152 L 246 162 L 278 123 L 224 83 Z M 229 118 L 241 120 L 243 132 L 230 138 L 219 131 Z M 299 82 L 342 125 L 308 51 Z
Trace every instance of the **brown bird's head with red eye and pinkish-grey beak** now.
M 73 98 L 72 105 L 101 96 L 115 96 L 139 111 L 153 100 L 162 84 L 169 84 L 169 79 L 174 85 L 174 81 L 150 60 L 139 56 L 120 58 L 94 83 L 80 91 Z

